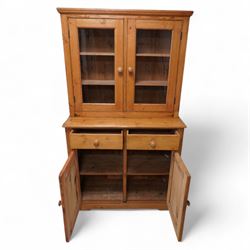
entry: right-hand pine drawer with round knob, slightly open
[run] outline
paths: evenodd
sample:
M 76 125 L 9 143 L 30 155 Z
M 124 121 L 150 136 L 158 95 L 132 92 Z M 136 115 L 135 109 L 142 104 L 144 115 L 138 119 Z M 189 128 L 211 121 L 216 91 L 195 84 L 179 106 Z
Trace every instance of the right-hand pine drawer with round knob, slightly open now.
M 180 134 L 130 134 L 127 133 L 127 149 L 134 150 L 178 150 Z

